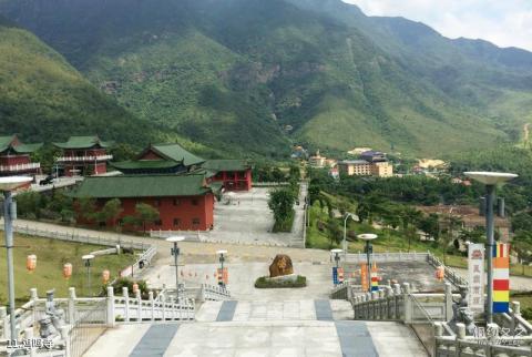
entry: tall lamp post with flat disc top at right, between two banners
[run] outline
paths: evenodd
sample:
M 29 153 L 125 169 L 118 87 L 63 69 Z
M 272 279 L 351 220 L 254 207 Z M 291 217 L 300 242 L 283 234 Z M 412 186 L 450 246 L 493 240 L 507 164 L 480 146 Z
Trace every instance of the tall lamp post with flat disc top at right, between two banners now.
M 502 172 L 464 172 L 464 175 L 485 185 L 487 208 L 485 213 L 485 235 L 488 241 L 488 312 L 487 323 L 493 323 L 493 246 L 494 246 L 494 220 L 493 220 L 493 202 L 495 201 L 497 184 L 518 177 L 515 174 Z

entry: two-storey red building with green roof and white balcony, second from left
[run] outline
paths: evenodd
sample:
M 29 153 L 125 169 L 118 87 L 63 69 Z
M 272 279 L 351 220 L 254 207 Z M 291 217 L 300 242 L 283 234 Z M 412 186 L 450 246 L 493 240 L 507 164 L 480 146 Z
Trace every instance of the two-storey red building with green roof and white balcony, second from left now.
M 64 143 L 54 143 L 63 151 L 57 159 L 58 165 L 65 176 L 101 175 L 108 172 L 108 154 L 111 143 L 101 141 L 98 136 L 70 136 Z

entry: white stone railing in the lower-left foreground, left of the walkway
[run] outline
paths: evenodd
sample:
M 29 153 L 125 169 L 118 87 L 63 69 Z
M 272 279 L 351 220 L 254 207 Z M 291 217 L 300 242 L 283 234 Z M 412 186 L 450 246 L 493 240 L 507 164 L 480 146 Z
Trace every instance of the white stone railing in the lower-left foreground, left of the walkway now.
M 39 320 L 45 316 L 47 299 L 39 298 L 35 288 L 30 290 L 30 302 L 16 310 L 18 335 L 13 339 L 19 341 L 32 338 L 33 333 L 39 329 Z M 71 287 L 68 298 L 54 298 L 54 303 L 58 309 L 64 312 L 65 325 L 61 328 L 61 335 L 54 339 L 54 345 L 60 350 L 54 350 L 53 356 L 81 356 L 85 350 L 71 354 L 71 350 L 76 348 L 74 345 L 89 348 L 105 328 L 114 327 L 120 323 L 193 320 L 195 318 L 194 299 L 182 299 L 178 304 L 158 302 L 154 298 L 153 292 L 149 292 L 147 299 L 142 299 L 140 290 L 130 297 L 127 287 L 123 287 L 122 296 L 115 296 L 113 287 L 110 286 L 108 296 L 94 298 L 78 298 L 75 289 Z M 12 339 L 9 324 L 10 316 L 7 315 L 6 307 L 1 306 L 0 341 L 2 343 Z M 86 326 L 92 328 L 90 336 L 78 332 Z M 88 341 L 88 338 L 91 340 Z M 3 346 L 0 344 L 0 354 L 2 349 Z M 37 350 L 33 353 L 39 355 Z

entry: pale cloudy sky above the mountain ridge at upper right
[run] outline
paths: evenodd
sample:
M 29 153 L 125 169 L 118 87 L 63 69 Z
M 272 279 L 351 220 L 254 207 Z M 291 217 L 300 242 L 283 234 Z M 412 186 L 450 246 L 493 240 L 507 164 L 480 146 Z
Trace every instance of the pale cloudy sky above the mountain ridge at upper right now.
M 484 39 L 532 51 L 532 0 L 344 0 L 366 14 L 421 21 L 456 39 Z

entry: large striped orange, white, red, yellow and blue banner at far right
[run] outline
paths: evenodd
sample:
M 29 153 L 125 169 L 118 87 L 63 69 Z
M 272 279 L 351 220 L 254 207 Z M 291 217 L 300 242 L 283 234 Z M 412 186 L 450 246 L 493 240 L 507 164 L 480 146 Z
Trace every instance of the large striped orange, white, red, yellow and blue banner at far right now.
M 510 244 L 493 246 L 493 313 L 510 313 Z

